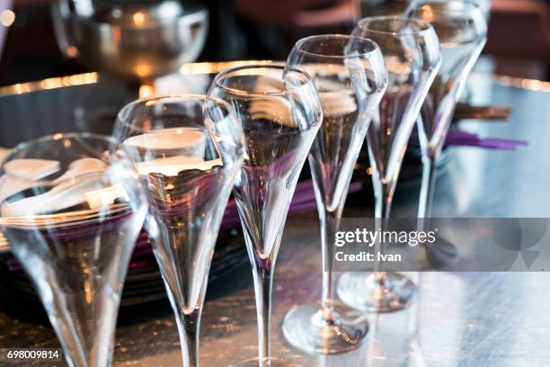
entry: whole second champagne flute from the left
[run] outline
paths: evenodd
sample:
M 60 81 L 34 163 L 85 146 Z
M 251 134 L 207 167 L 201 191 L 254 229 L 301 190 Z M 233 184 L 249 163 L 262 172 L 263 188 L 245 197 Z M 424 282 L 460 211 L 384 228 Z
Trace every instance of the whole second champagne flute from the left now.
M 197 366 L 208 270 L 243 161 L 242 130 L 227 103 L 182 94 L 130 103 L 114 135 L 145 182 L 146 230 L 176 317 L 183 365 Z

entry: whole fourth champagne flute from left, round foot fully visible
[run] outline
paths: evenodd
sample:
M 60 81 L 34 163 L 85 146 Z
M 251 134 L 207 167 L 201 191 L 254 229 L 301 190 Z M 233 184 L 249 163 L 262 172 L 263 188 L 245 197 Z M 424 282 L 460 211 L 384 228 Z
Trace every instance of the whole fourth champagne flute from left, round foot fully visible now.
M 368 124 L 387 85 L 377 44 L 361 37 L 320 35 L 298 40 L 287 66 L 312 76 L 323 106 L 323 124 L 309 153 L 321 222 L 323 295 L 291 309 L 283 321 L 288 342 L 308 353 L 336 354 L 356 348 L 368 332 L 367 318 L 346 318 L 334 300 L 333 246 L 353 166 Z

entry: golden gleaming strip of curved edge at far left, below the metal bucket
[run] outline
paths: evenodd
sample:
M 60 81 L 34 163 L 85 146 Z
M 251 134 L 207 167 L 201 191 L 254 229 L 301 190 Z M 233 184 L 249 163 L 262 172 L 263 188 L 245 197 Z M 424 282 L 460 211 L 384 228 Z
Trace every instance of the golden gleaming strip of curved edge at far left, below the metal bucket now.
M 25 94 L 64 86 L 89 85 L 97 83 L 97 73 L 76 74 L 74 76 L 50 77 L 37 82 L 19 83 L 0 87 L 0 95 Z

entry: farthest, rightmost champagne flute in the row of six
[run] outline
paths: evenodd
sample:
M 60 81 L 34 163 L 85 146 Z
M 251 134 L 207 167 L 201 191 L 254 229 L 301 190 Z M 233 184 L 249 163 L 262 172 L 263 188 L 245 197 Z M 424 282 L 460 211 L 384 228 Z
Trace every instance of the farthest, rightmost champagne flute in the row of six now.
M 487 26 L 482 9 L 466 1 L 416 1 L 405 13 L 430 22 L 441 45 L 441 67 L 418 118 L 423 166 L 418 217 L 425 218 L 430 217 L 436 166 L 448 128 L 466 78 L 487 40 Z

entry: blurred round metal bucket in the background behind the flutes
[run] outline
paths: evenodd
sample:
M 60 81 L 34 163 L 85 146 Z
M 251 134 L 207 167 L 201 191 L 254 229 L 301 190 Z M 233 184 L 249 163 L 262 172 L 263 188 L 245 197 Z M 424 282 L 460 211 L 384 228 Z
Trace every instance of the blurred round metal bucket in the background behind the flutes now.
M 58 0 L 52 17 L 67 57 L 140 80 L 194 61 L 208 32 L 206 8 L 178 0 Z

